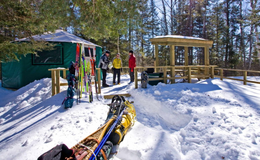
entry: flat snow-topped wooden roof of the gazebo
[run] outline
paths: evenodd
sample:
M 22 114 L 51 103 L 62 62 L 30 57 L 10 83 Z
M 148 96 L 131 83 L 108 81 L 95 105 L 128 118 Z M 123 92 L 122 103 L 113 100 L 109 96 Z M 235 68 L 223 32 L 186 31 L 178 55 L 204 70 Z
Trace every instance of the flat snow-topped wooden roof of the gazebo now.
M 150 39 L 152 45 L 176 45 L 191 47 L 212 47 L 213 41 L 179 35 L 156 36 Z

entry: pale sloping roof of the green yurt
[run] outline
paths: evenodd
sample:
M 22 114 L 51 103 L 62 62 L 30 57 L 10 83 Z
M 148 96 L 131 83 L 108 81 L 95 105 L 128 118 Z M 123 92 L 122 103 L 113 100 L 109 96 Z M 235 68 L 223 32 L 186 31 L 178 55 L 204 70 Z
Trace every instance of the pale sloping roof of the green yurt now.
M 54 34 L 51 33 L 51 32 L 45 32 L 42 35 L 35 35 L 35 36 L 32 36 L 32 37 L 36 41 L 44 39 L 45 41 L 50 41 L 50 42 L 84 43 L 85 45 L 92 45 L 92 46 L 101 47 L 99 45 L 96 45 L 94 43 L 86 41 L 82 38 L 79 38 L 78 36 L 75 36 L 74 34 L 70 34 L 70 33 L 66 32 L 64 30 L 56 30 Z M 30 38 L 22 38 L 22 39 L 18 39 L 16 41 L 30 41 Z

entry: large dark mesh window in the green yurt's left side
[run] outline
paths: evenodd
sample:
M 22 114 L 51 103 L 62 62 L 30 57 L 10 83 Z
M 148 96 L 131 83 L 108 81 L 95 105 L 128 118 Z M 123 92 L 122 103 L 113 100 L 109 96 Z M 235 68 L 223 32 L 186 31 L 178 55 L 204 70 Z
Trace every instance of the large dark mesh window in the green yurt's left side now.
M 53 50 L 38 51 L 38 56 L 32 54 L 32 65 L 62 65 L 63 54 L 62 47 L 55 46 Z

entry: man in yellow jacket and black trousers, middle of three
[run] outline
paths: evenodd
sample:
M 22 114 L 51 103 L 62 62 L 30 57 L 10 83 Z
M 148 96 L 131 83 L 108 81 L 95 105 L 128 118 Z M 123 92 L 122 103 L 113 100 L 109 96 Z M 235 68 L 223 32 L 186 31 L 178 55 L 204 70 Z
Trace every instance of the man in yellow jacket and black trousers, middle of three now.
M 120 71 L 123 70 L 122 60 L 120 58 L 120 54 L 117 53 L 116 57 L 112 59 L 112 65 L 114 67 L 113 72 L 113 84 L 116 84 L 116 75 L 117 75 L 117 84 L 120 84 Z

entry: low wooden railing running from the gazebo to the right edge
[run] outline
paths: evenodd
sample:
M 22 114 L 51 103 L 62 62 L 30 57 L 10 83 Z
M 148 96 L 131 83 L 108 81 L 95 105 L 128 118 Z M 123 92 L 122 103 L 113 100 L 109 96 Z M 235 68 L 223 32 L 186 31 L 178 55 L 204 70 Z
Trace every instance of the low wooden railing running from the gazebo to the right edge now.
M 242 81 L 242 82 L 244 82 L 244 83 L 243 83 L 244 85 L 246 85 L 247 82 L 260 84 L 260 82 L 252 81 L 252 80 L 247 80 L 247 79 L 246 79 L 246 77 L 247 77 L 247 72 L 260 73 L 260 71 L 246 71 L 246 70 L 223 69 L 223 68 L 216 68 L 215 70 L 217 70 L 217 71 L 220 72 L 220 76 L 216 76 L 216 75 L 215 75 L 215 77 L 220 78 L 220 80 L 223 80 L 223 78 L 225 78 L 225 79 L 230 79 L 230 80 Z M 237 78 L 224 77 L 224 76 L 223 76 L 223 73 L 224 73 L 223 71 L 239 71 L 239 72 L 243 72 L 243 77 L 244 77 L 244 78 L 243 78 L 243 80 L 241 80 L 241 79 L 237 79 Z

